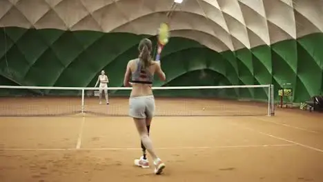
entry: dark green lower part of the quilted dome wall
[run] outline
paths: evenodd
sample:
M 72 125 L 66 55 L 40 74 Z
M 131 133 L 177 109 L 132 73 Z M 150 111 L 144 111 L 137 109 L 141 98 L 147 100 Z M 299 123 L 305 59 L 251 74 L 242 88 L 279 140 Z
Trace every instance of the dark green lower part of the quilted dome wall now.
M 143 37 L 149 36 L 1 28 L 0 84 L 92 87 L 100 70 L 106 70 L 110 87 L 121 87 L 126 63 L 137 56 Z M 167 81 L 156 79 L 155 86 L 273 83 L 277 92 L 282 84 L 292 83 L 294 101 L 301 102 L 322 92 L 322 43 L 323 34 L 317 33 L 251 50 L 215 52 L 196 41 L 173 37 L 162 54 Z M 198 94 L 202 92 L 193 92 Z M 230 96 L 267 97 L 264 90 L 253 89 L 231 92 Z

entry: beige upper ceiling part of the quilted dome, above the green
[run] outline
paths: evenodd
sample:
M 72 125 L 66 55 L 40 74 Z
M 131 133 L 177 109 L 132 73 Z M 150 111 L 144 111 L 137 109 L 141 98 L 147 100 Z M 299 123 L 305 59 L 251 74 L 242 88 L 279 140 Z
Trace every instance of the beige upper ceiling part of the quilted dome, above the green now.
M 0 26 L 156 34 L 173 0 L 0 1 Z M 37 7 L 37 8 L 35 8 Z M 173 32 L 223 52 L 271 45 L 323 31 L 323 1 L 190 0 L 177 7 Z M 118 18 L 115 18 L 118 17 Z M 306 27 L 306 28 L 305 28 Z M 195 36 L 197 32 L 204 32 Z M 218 40 L 203 41 L 210 37 Z M 221 42 L 222 45 L 215 45 Z

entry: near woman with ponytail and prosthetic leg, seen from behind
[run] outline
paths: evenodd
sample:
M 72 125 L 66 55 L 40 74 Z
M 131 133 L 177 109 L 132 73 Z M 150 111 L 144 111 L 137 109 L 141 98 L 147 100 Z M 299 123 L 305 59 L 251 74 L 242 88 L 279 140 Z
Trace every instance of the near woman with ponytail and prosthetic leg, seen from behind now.
M 129 116 L 133 117 L 135 121 L 141 138 L 141 148 L 144 152 L 144 155 L 140 159 L 135 160 L 135 165 L 141 168 L 149 168 L 148 159 L 146 159 L 147 149 L 154 161 L 155 174 L 161 174 L 165 168 L 165 164 L 155 153 L 153 143 L 149 137 L 150 123 L 155 111 L 155 99 L 151 86 L 155 73 L 158 74 L 162 81 L 166 80 L 166 76 L 161 70 L 159 61 L 152 60 L 150 55 L 152 43 L 149 39 L 142 39 L 138 49 L 139 58 L 128 62 L 126 74 L 124 75 L 124 85 L 133 86 L 129 99 Z

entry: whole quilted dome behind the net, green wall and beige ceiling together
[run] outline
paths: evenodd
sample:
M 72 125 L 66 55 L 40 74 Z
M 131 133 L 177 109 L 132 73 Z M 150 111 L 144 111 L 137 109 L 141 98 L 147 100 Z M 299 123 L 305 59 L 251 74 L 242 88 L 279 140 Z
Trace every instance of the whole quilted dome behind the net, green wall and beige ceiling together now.
M 0 84 L 92 87 L 104 69 L 110 86 L 121 86 L 137 43 L 155 40 L 172 3 L 0 1 Z M 184 0 L 163 52 L 168 80 L 156 85 L 181 85 L 199 71 L 208 77 L 186 85 L 292 83 L 294 101 L 304 101 L 323 90 L 322 14 L 320 0 Z

